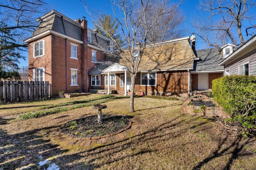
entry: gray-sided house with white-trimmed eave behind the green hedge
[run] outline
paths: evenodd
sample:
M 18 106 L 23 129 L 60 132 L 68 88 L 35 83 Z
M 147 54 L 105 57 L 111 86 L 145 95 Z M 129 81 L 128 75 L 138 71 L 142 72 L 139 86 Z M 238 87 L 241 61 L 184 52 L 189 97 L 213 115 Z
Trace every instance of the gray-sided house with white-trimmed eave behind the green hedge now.
M 224 66 L 224 75 L 256 76 L 256 35 L 230 53 L 219 65 Z

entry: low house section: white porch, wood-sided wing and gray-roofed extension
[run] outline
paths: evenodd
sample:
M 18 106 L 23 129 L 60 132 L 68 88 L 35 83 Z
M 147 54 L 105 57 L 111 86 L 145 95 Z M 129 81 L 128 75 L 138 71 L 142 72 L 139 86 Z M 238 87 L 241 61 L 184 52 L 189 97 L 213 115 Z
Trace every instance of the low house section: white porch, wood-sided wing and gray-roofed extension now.
M 151 47 L 148 45 L 145 51 L 150 51 Z M 233 45 L 225 46 L 229 47 Z M 134 87 L 136 94 L 144 92 L 147 95 L 188 96 L 198 90 L 208 92 L 211 91 L 212 80 L 223 76 L 224 67 L 218 65 L 223 59 L 223 52 L 219 49 L 195 51 L 194 35 L 162 42 L 154 48 L 156 54 L 146 66 L 139 68 Z M 141 63 L 143 65 L 143 59 Z M 100 86 L 91 86 L 92 89 L 96 87 L 106 93 L 115 91 L 124 95 L 129 93 L 129 68 L 122 62 L 109 67 L 107 64 L 98 65 L 89 74 L 97 74 L 101 80 L 98 82 Z

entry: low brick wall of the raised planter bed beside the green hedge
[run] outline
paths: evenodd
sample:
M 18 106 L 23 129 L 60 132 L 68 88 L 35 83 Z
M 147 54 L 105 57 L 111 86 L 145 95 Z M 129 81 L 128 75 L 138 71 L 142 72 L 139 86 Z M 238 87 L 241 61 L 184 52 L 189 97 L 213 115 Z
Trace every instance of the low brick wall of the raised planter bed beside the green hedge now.
M 181 106 L 181 113 L 185 114 L 198 114 L 193 113 L 194 110 L 200 109 L 199 106 L 194 105 L 188 105 L 192 100 L 194 101 L 204 101 L 204 102 L 213 102 L 216 107 L 206 107 L 205 109 L 205 116 L 208 117 L 214 117 L 219 116 L 220 118 L 227 118 L 229 115 L 226 114 L 223 107 L 219 106 L 216 102 L 214 102 L 213 99 L 210 98 L 188 98 Z M 204 113 L 200 113 L 201 115 L 204 115 Z

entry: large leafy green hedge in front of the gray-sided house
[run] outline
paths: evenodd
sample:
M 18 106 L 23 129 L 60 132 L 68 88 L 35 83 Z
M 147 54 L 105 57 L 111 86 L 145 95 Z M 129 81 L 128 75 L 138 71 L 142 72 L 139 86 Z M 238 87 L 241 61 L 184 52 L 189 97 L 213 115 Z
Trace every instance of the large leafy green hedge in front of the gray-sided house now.
M 237 133 L 248 136 L 256 123 L 256 76 L 232 75 L 212 81 L 212 96 L 231 118 Z

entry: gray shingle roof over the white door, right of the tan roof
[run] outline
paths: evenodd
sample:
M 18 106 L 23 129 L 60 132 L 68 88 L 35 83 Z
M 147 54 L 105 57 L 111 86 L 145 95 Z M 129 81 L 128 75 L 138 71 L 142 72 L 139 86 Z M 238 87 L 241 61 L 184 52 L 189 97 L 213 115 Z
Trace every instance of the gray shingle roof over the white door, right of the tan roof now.
M 193 71 L 224 70 L 223 66 L 219 66 L 220 61 L 222 61 L 222 56 L 218 48 L 196 50 L 196 54 L 197 57 L 200 57 L 200 60 L 194 62 Z

